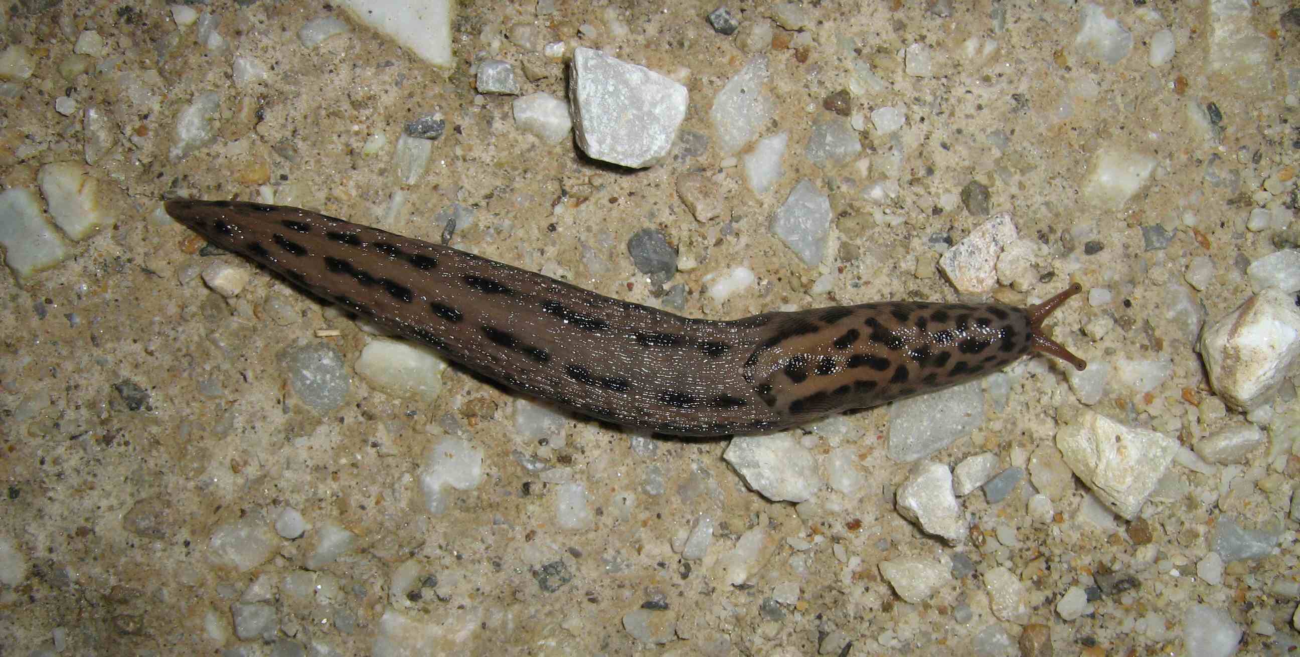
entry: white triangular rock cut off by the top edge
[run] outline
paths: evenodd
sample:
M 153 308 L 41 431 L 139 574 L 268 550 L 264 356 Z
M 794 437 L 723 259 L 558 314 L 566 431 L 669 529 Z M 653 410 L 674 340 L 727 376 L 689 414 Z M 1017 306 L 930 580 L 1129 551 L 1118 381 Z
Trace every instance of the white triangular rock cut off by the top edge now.
M 451 0 L 342 0 L 358 22 L 386 34 L 416 57 L 451 68 Z

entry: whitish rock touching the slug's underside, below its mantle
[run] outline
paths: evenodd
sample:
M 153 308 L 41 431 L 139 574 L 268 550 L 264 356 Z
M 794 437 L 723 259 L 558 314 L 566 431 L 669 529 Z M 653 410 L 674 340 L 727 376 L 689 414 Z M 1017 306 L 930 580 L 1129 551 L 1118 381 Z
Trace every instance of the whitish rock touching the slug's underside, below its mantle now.
M 802 502 L 822 488 L 816 459 L 789 433 L 737 436 L 723 459 L 746 485 L 774 502 Z

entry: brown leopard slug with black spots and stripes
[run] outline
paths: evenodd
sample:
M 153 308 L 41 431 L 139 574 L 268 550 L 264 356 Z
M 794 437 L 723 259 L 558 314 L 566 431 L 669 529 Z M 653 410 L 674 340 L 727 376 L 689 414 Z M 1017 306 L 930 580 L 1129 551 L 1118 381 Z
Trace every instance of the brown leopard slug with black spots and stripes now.
M 660 433 L 789 428 L 968 381 L 1032 351 L 1086 367 L 1043 330 L 1079 284 L 1030 308 L 884 302 L 714 321 L 306 209 L 165 207 L 213 245 L 474 372 Z

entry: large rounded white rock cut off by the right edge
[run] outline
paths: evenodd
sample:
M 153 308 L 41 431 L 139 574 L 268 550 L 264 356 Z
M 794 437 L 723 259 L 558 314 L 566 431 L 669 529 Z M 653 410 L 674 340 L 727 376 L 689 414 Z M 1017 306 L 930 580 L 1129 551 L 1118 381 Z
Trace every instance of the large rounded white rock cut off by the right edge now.
M 1238 410 L 1268 402 L 1300 353 L 1295 298 L 1266 289 L 1201 332 L 1201 359 L 1210 388 Z

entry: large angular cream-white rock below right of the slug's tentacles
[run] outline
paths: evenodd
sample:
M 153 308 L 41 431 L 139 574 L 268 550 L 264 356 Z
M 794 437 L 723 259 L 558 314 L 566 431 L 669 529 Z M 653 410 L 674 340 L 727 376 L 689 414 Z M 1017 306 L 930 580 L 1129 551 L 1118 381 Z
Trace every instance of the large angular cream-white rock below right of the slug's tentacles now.
M 1178 448 L 1164 435 L 1126 427 L 1093 411 L 1061 427 L 1056 442 L 1097 498 L 1130 520 L 1156 489 Z

